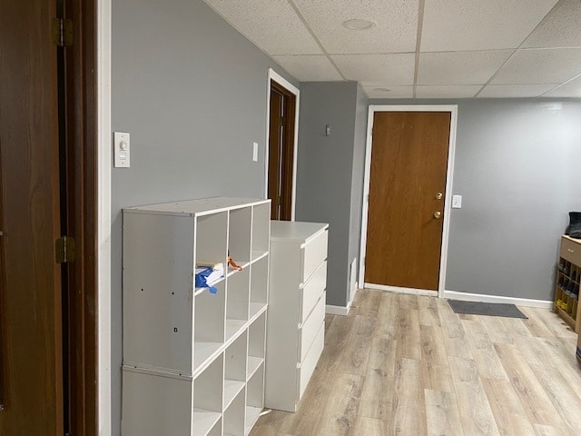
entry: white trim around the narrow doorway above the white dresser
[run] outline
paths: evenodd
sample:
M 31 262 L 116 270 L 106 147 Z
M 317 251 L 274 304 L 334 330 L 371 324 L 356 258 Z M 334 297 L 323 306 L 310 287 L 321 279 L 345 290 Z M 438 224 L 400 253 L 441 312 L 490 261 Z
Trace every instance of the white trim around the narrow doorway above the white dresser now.
M 269 198 L 269 136 L 271 134 L 271 80 L 286 88 L 296 97 L 294 107 L 294 153 L 292 156 L 292 202 L 291 202 L 291 221 L 295 217 L 295 205 L 297 202 L 297 154 L 299 150 L 299 89 L 291 84 L 288 80 L 274 71 L 268 69 L 266 85 L 266 141 L 264 143 L 264 198 Z

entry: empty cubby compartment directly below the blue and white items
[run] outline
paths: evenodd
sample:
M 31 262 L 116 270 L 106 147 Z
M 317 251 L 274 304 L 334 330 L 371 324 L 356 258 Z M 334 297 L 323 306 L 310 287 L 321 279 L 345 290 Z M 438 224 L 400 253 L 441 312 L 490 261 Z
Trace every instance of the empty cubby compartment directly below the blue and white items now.
M 193 372 L 196 372 L 224 343 L 225 282 L 216 284 L 216 293 L 207 290 L 196 295 L 193 305 Z

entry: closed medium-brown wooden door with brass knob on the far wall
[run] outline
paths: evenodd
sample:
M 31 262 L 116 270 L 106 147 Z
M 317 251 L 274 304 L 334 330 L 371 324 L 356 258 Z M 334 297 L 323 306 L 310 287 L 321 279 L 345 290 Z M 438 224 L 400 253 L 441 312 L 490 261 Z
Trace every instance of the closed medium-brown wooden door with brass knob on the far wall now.
M 438 291 L 449 129 L 448 112 L 375 113 L 365 282 Z

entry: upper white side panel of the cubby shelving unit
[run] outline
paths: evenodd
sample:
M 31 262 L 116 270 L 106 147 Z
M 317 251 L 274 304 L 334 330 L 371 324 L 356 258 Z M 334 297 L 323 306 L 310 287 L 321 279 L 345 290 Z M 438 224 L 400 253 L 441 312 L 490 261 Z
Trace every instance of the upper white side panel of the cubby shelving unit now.
M 193 220 L 123 214 L 123 361 L 192 373 Z

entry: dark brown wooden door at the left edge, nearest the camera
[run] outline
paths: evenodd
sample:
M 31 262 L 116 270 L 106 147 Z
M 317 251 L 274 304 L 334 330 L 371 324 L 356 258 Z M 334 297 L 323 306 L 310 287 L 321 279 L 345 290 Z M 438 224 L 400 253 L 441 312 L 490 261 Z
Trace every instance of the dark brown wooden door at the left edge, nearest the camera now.
M 0 1 L 0 434 L 61 436 L 55 2 Z

